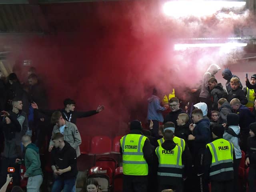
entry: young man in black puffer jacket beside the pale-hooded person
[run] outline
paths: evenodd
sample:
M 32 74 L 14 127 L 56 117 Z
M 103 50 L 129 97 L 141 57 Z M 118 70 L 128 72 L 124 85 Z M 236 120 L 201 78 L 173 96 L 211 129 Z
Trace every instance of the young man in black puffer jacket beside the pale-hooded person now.
M 211 92 L 212 110 L 218 110 L 218 100 L 220 98 L 226 99 L 228 94 L 226 90 L 223 89 L 222 84 L 217 82 L 216 78 L 211 77 L 208 84 Z

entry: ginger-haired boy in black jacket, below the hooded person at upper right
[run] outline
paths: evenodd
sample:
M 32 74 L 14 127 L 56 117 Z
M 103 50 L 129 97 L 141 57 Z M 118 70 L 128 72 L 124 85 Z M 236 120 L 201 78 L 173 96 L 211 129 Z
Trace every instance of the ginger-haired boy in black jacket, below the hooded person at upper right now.
M 232 90 L 228 93 L 228 98 L 227 98 L 228 102 L 230 102 L 234 98 L 237 98 L 240 100 L 241 104 L 243 105 L 247 104 L 248 100 L 244 95 L 244 91 L 239 87 L 240 83 L 237 77 L 231 78 L 230 86 Z

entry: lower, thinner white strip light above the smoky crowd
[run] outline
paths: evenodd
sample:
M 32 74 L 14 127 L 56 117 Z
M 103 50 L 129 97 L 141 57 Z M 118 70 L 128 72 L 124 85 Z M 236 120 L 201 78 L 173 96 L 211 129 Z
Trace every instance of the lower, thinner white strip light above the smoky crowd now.
M 204 47 L 245 47 L 247 43 L 196 43 L 196 44 L 175 44 L 174 50 L 186 50 L 187 48 L 204 48 Z

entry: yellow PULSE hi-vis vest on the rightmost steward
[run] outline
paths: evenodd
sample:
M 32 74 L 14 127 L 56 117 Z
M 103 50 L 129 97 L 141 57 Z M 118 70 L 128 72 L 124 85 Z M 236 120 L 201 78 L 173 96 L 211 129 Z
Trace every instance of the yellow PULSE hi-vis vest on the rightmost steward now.
M 217 178 L 224 172 L 233 170 L 233 150 L 234 146 L 223 138 L 216 139 L 206 144 L 212 154 L 212 164 L 210 166 L 210 177 Z

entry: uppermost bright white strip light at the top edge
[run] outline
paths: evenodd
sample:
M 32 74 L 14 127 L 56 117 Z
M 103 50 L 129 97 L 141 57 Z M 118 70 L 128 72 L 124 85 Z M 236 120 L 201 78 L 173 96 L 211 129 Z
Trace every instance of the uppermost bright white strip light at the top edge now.
M 245 1 L 204 1 L 204 0 L 174 0 L 164 4 L 164 13 L 173 17 L 205 16 L 216 13 L 222 8 L 243 8 Z

